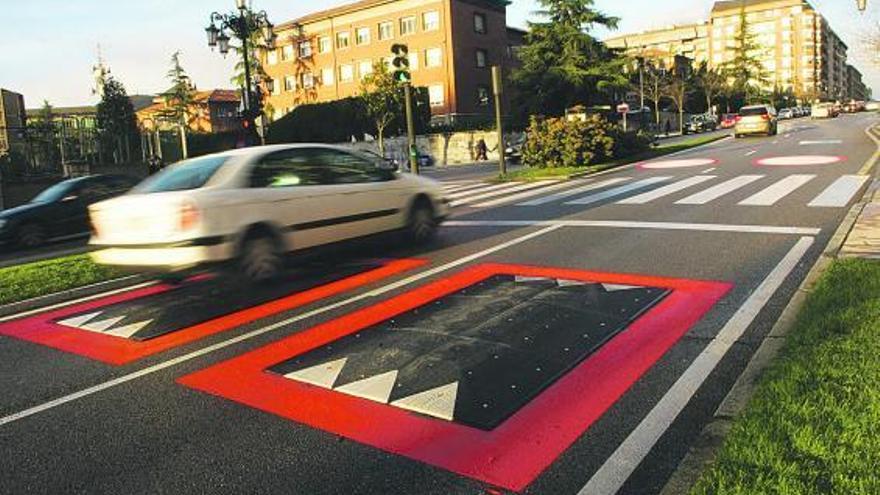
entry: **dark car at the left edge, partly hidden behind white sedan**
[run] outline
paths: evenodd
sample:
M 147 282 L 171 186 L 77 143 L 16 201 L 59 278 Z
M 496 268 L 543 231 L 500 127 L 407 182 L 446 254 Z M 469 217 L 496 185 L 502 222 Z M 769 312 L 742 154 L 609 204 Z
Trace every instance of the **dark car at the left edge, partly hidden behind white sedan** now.
M 0 245 L 29 248 L 88 235 L 89 205 L 119 196 L 137 182 L 125 175 L 89 175 L 59 182 L 30 203 L 0 211 Z

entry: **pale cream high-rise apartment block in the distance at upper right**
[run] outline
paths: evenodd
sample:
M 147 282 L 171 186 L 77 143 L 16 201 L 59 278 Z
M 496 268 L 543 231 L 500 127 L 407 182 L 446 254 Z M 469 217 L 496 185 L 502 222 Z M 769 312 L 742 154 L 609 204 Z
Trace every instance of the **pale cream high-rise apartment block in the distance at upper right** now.
M 807 0 L 718 1 L 705 23 L 618 36 L 606 42 L 629 54 L 647 52 L 665 58 L 685 54 L 719 69 L 736 56 L 743 11 L 749 33 L 760 47 L 754 55 L 768 76 L 760 84 L 763 89 L 791 90 L 802 101 L 852 97 L 847 46 Z

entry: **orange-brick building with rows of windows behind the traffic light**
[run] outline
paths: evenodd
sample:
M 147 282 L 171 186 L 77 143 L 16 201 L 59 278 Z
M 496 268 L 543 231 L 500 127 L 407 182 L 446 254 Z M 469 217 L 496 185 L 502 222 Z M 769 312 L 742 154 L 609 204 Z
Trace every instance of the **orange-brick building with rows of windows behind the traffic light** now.
M 361 0 L 276 27 L 261 54 L 275 81 L 274 118 L 297 105 L 357 95 L 391 46 L 409 47 L 413 84 L 435 117 L 491 113 L 490 67 L 507 70 L 525 33 L 507 26 L 506 0 Z

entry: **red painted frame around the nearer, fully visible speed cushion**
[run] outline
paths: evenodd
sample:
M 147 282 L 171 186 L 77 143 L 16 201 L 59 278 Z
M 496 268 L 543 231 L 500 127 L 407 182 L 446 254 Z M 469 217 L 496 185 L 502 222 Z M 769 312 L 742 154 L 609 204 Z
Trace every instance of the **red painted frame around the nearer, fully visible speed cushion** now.
M 662 287 L 672 292 L 492 431 L 289 380 L 267 368 L 494 275 Z M 482 264 L 184 376 L 179 383 L 520 491 L 580 437 L 730 290 L 639 275 Z

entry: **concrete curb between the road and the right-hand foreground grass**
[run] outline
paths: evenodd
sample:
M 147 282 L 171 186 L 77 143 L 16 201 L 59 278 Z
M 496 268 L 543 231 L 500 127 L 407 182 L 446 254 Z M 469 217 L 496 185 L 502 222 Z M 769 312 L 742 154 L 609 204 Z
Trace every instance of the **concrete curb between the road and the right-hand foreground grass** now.
M 873 135 L 873 132 L 878 130 L 878 126 L 880 124 L 872 125 L 865 130 L 865 133 L 877 144 L 877 151 L 859 171 L 860 175 L 870 174 L 880 159 L 880 140 Z M 737 378 L 724 400 L 721 401 L 718 409 L 715 410 L 713 419 L 700 432 L 688 453 L 672 473 L 669 481 L 666 482 L 660 495 L 680 495 L 690 492 L 703 472 L 714 462 L 718 449 L 733 427 L 734 420 L 745 410 L 749 400 L 755 394 L 764 372 L 784 347 L 786 337 L 794 327 L 797 315 L 806 302 L 807 296 L 837 257 L 837 253 L 853 229 L 871 194 L 871 188 L 866 188 L 859 201 L 849 209 L 834 235 L 828 240 L 822 254 L 798 286 L 773 328 L 770 329 L 770 333 L 764 337 L 745 370 Z

